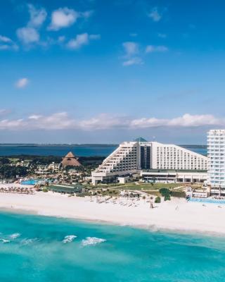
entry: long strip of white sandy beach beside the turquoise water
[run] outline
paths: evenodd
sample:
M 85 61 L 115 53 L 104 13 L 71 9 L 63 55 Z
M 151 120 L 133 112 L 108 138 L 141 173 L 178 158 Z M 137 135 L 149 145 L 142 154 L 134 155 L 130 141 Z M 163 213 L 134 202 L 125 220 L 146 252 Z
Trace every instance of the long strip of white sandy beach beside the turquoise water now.
M 203 204 L 172 199 L 154 204 L 139 201 L 137 207 L 113 203 L 90 202 L 89 197 L 68 197 L 52 192 L 37 192 L 35 195 L 0 193 L 1 209 L 20 209 L 25 212 L 46 216 L 61 216 L 89 221 L 107 221 L 120 225 L 143 228 L 169 229 L 225 235 L 225 206 Z

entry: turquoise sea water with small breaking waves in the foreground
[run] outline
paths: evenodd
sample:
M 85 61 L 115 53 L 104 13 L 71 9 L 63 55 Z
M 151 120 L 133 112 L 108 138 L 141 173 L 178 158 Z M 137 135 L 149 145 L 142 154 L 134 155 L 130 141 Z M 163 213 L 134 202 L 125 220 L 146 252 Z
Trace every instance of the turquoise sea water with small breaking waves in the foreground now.
M 225 281 L 225 240 L 0 213 L 0 281 Z

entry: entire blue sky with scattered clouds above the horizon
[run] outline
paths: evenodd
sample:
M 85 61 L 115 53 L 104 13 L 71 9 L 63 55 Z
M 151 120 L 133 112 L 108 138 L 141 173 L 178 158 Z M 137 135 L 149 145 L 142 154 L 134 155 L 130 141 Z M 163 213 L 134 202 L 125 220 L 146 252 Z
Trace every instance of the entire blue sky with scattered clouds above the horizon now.
M 225 125 L 224 9 L 2 1 L 0 142 L 205 144 Z

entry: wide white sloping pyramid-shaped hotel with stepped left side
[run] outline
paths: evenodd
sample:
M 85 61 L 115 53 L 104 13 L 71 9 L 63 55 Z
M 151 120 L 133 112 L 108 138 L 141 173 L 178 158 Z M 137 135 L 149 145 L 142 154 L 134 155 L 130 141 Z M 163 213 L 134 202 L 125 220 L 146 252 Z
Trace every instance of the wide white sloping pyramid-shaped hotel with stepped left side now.
M 137 172 L 146 180 L 160 181 L 162 172 L 162 181 L 178 182 L 182 179 L 179 182 L 204 182 L 207 179 L 207 166 L 207 157 L 183 147 L 159 142 L 123 142 L 92 172 L 92 183 L 110 182 Z M 173 173 L 172 179 L 167 175 L 169 171 Z M 183 174 L 178 175 L 178 171 L 183 171 Z

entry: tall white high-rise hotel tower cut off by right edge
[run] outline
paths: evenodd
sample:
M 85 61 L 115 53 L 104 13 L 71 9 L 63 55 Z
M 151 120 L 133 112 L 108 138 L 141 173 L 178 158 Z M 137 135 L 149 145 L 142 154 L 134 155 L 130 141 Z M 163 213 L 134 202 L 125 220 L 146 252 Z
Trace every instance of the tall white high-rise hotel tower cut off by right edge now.
M 210 130 L 207 134 L 209 157 L 207 183 L 214 188 L 225 188 L 225 130 Z M 216 192 L 216 191 L 214 191 Z

